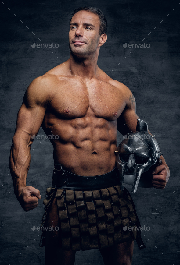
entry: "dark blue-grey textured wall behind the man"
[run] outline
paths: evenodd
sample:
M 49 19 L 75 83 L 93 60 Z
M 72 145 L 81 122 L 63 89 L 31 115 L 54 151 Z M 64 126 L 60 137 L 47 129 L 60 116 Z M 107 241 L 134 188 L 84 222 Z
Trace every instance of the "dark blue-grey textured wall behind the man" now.
M 36 139 L 31 148 L 27 186 L 39 189 L 42 199 L 38 207 L 30 212 L 24 212 L 14 196 L 8 166 L 9 150 L 16 115 L 27 86 L 34 78 L 69 58 L 70 14 L 74 9 L 87 4 L 101 8 L 107 15 L 108 39 L 100 49 L 99 67 L 132 91 L 136 99 L 137 114 L 150 124 L 149 130 L 161 142 L 161 150 L 171 171 L 164 190 L 138 188 L 137 192 L 132 194 L 142 225 L 151 228 L 150 231 L 142 231 L 146 249 L 139 251 L 135 242 L 132 264 L 178 264 L 179 0 L 95 0 L 95 3 L 88 3 L 88 0 L 45 0 L 3 3 L 0 3 L 3 185 L 0 203 L 0 264 L 44 264 L 44 249 L 39 248 L 40 232 L 32 231 L 31 227 L 40 225 L 44 212 L 42 200 L 45 197 L 45 189 L 51 186 L 52 144 L 48 140 Z M 31 47 L 33 43 L 52 42 L 59 44 L 59 48 Z M 150 48 L 131 49 L 122 46 L 125 43 L 144 42 L 149 43 Z M 44 134 L 42 129 L 40 131 L 40 135 Z M 79 251 L 76 259 L 76 265 L 103 263 L 98 249 Z

